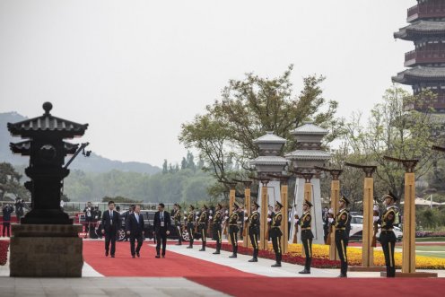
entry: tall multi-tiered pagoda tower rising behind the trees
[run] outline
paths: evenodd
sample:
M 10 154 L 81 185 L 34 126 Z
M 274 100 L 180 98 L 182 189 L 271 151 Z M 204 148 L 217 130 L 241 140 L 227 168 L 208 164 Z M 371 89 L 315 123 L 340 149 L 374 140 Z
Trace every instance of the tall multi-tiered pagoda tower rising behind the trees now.
M 392 81 L 411 85 L 414 95 L 425 90 L 437 94 L 435 100 L 424 98 L 406 109 L 432 107 L 445 114 L 445 0 L 417 0 L 408 9 L 406 22 L 410 24 L 394 33 L 394 38 L 413 41 L 414 50 L 405 54 L 408 69 Z

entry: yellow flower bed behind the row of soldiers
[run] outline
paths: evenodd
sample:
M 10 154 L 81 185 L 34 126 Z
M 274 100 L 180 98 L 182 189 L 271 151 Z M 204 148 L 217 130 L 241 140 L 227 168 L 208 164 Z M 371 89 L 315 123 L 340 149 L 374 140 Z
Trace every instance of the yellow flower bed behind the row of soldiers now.
M 269 245 L 269 250 L 273 250 L 272 245 Z M 288 253 L 302 256 L 301 250 L 302 244 L 289 244 Z M 348 248 L 346 252 L 349 265 L 362 265 L 362 249 Z M 324 244 L 313 244 L 312 255 L 315 258 L 329 258 L 329 246 Z M 400 268 L 402 266 L 402 253 L 395 252 L 394 258 L 396 260 L 396 266 Z M 385 256 L 382 250 L 374 249 L 374 265 L 385 266 Z M 445 258 L 415 256 L 415 267 L 419 269 L 445 269 Z

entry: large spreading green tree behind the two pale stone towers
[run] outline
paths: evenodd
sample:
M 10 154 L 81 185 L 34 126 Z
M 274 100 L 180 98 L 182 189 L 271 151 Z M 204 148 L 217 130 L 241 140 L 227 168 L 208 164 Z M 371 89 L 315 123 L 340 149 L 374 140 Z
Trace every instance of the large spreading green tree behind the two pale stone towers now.
M 285 151 L 292 150 L 292 128 L 306 120 L 329 127 L 336 135 L 338 121 L 334 118 L 336 101 L 326 100 L 320 84 L 323 76 L 310 75 L 303 79 L 298 96 L 292 93 L 292 66 L 274 79 L 246 74 L 244 80 L 231 80 L 223 88 L 222 98 L 206 107 L 190 123 L 181 126 L 179 141 L 187 148 L 196 148 L 218 181 L 228 181 L 233 163 L 248 170 L 247 161 L 257 157 L 254 140 L 274 131 L 289 140 Z

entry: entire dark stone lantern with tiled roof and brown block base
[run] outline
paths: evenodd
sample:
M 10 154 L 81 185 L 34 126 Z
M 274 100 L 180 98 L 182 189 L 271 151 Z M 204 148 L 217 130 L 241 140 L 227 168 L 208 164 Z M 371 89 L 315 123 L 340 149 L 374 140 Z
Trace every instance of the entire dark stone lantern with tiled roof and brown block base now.
M 31 211 L 22 224 L 13 225 L 11 276 L 82 276 L 81 225 L 60 208 L 63 179 L 69 174 L 65 156 L 74 154 L 78 144 L 64 141 L 82 136 L 88 124 L 56 118 L 52 104 L 43 104 L 45 113 L 18 123 L 8 123 L 13 136 L 27 140 L 10 144 L 13 153 L 30 156 L 25 173 L 31 179 L 25 187 L 31 192 Z M 56 259 L 56 260 L 55 260 Z

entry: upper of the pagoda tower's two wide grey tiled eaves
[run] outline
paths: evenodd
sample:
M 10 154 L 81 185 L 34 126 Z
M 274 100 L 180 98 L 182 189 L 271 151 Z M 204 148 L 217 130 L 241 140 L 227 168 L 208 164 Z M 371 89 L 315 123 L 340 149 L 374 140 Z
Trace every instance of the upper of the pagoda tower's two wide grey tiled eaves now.
M 394 33 L 396 39 L 412 40 L 419 35 L 425 36 L 445 36 L 445 22 L 419 21 L 414 22 L 404 28 L 400 28 Z

